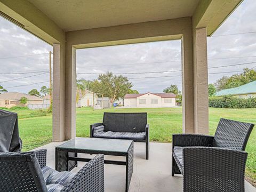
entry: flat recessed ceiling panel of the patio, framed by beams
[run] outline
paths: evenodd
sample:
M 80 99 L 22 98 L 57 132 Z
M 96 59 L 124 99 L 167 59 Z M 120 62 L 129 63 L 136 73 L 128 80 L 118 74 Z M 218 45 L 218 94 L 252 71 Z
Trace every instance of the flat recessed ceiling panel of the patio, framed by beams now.
M 65 31 L 191 17 L 199 0 L 28 0 Z

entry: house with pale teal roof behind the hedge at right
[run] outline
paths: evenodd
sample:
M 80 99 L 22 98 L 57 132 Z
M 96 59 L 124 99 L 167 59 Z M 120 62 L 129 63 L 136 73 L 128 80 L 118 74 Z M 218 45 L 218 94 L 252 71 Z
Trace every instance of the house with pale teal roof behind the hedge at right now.
M 221 90 L 216 93 L 218 97 L 223 95 L 233 95 L 240 99 L 256 98 L 256 81 L 235 88 Z

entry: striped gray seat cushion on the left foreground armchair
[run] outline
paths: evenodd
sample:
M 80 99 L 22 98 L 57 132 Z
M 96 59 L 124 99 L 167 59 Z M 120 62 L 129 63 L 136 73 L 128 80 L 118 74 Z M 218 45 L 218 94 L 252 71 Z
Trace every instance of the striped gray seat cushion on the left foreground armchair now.
M 48 192 L 60 191 L 75 176 L 75 173 L 59 172 L 48 166 L 42 168 L 42 173 Z

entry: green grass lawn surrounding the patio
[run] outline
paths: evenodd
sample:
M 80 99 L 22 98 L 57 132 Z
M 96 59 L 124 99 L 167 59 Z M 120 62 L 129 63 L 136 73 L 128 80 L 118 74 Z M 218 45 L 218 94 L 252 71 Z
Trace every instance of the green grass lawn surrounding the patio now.
M 128 108 L 92 110 L 77 109 L 77 137 L 89 137 L 90 124 L 102 122 L 104 111 L 147 112 L 150 124 L 150 140 L 155 142 L 171 142 L 173 133 L 182 133 L 181 108 Z M 210 134 L 213 135 L 220 117 L 256 124 L 255 109 L 218 109 L 210 108 Z M 31 110 L 15 111 L 19 116 L 20 137 L 23 140 L 23 151 L 33 149 L 51 142 L 52 116 L 35 117 Z M 251 133 L 246 151 L 249 153 L 246 164 L 246 175 L 251 183 L 256 183 L 256 127 Z

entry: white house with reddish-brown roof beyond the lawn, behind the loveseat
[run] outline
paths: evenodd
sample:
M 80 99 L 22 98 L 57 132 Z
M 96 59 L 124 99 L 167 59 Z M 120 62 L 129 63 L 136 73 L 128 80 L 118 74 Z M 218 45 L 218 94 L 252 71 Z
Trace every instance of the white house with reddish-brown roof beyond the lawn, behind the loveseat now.
M 173 93 L 143 93 L 126 94 L 125 107 L 174 107 L 175 97 Z

